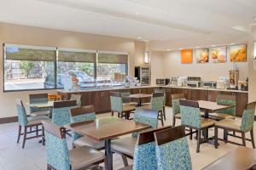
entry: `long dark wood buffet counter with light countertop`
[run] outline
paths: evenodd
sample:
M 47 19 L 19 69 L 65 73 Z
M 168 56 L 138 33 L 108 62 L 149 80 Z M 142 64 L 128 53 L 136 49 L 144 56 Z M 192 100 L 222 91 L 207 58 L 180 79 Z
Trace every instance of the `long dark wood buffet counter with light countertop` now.
M 216 89 L 216 88 L 187 88 L 173 86 L 142 86 L 142 87 L 112 87 L 88 88 L 80 91 L 58 90 L 61 99 L 70 99 L 71 94 L 82 94 L 81 105 L 94 105 L 96 113 L 111 111 L 110 91 L 130 92 L 131 94 L 152 94 L 154 88 L 166 89 L 166 105 L 172 106 L 172 94 L 185 94 L 186 99 L 216 101 L 218 94 L 236 95 L 236 116 L 241 116 L 247 105 L 248 93 L 241 90 Z M 150 102 L 143 99 L 142 102 Z M 239 104 L 239 105 L 238 105 Z

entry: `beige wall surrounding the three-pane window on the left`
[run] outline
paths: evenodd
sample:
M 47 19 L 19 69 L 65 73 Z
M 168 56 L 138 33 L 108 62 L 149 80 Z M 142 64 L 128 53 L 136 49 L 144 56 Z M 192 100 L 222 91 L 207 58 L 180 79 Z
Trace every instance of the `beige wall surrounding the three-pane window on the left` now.
M 73 31 L 58 31 L 32 26 L 18 26 L 6 23 L 0 23 L 0 42 L 1 44 L 3 42 L 9 42 L 60 48 L 85 48 L 128 52 L 130 54 L 129 73 L 131 76 L 134 75 L 134 65 L 141 62 L 141 53 L 144 51 L 143 42 L 135 42 L 132 39 L 106 37 Z M 2 55 L 3 48 L 0 48 L 1 63 L 3 63 Z M 3 65 L 0 65 L 0 79 L 0 118 L 17 115 L 15 111 L 15 98 L 23 99 L 26 103 L 28 101 L 28 94 L 55 93 L 55 90 L 3 93 Z

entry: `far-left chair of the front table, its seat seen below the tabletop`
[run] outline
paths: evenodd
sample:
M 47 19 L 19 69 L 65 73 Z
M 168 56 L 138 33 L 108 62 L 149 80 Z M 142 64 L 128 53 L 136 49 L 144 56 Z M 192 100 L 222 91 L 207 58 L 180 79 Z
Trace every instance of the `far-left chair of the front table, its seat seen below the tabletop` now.
M 96 120 L 96 113 L 93 105 L 82 106 L 80 108 L 73 108 L 70 110 L 71 122 L 86 122 Z M 104 141 L 96 141 L 94 139 L 83 136 L 79 133 L 73 132 L 72 143 L 74 147 L 90 146 L 96 150 L 104 149 Z

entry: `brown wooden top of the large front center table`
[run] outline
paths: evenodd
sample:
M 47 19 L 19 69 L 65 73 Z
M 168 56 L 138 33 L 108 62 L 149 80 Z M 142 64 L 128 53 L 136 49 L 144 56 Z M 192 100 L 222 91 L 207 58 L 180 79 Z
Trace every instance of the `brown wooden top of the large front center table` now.
M 72 123 L 64 127 L 91 139 L 102 141 L 145 130 L 150 126 L 111 116 L 99 118 L 95 121 Z

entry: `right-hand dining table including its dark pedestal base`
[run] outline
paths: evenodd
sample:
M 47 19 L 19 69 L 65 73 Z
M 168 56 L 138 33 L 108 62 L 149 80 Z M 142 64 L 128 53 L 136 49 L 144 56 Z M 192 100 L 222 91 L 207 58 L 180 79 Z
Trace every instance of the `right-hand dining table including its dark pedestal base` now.
M 207 100 L 198 100 L 199 108 L 205 111 L 205 118 L 209 118 L 211 112 L 216 112 L 224 109 L 234 107 L 234 105 L 219 105 L 217 102 L 207 101 Z M 203 132 L 205 139 L 208 139 L 208 129 Z M 208 143 L 213 144 L 211 140 L 207 140 Z

